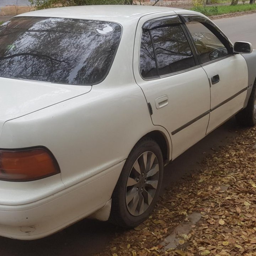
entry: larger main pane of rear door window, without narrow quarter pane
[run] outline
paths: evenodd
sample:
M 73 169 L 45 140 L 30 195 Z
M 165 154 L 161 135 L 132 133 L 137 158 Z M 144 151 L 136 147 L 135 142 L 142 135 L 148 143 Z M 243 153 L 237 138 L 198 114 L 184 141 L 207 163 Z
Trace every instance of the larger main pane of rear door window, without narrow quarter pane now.
M 181 26 L 161 27 L 151 30 L 159 75 L 191 68 L 194 58 Z

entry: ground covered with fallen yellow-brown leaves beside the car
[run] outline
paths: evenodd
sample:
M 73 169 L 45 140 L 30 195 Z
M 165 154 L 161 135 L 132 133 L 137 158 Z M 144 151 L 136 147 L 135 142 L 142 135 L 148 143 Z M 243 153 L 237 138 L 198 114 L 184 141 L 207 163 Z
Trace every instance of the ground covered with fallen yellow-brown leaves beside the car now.
M 201 170 L 166 188 L 154 212 L 132 230 L 119 230 L 98 256 L 256 255 L 256 129 L 245 129 L 227 146 L 206 156 Z M 201 220 L 178 245 L 160 243 L 187 215 Z

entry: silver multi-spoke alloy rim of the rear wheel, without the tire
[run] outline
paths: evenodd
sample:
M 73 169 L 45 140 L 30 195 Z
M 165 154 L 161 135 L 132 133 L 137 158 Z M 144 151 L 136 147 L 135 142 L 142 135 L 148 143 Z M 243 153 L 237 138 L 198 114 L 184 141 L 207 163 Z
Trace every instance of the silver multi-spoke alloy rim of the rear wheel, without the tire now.
M 126 206 L 130 214 L 143 214 L 152 203 L 159 182 L 159 163 L 151 151 L 134 162 L 126 183 Z

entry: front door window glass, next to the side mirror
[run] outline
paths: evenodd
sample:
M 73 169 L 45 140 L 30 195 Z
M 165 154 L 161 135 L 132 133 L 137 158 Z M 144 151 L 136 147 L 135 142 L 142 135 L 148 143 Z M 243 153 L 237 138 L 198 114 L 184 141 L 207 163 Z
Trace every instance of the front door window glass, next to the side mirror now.
M 206 26 L 200 22 L 186 23 L 190 31 L 202 63 L 228 55 L 228 50 Z M 210 25 L 208 25 L 210 26 Z M 215 29 L 212 27 L 212 30 Z M 216 33 L 218 33 L 216 31 Z

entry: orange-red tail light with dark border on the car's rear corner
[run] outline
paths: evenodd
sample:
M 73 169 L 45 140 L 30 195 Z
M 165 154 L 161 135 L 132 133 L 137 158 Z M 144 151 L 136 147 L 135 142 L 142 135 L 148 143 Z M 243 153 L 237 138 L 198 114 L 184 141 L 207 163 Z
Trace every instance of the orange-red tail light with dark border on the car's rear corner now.
M 46 148 L 0 150 L 0 180 L 32 181 L 59 172 L 56 159 Z

